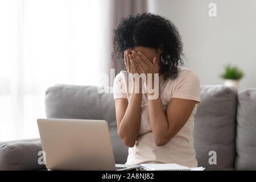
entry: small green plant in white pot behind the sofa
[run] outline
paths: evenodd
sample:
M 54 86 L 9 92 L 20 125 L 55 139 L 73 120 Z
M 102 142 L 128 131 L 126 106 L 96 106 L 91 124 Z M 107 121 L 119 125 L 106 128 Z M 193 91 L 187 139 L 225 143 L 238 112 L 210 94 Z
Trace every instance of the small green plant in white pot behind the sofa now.
M 231 66 L 230 64 L 224 66 L 225 72 L 220 75 L 224 78 L 224 85 L 234 86 L 238 89 L 239 81 L 243 77 L 243 71 L 237 66 Z

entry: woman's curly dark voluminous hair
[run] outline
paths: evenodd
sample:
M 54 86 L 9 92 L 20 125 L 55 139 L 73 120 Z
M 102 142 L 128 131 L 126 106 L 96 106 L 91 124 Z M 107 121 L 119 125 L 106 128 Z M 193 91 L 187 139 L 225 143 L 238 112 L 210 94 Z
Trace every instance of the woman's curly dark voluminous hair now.
M 123 52 L 135 46 L 162 48 L 159 66 L 164 80 L 177 77 L 177 68 L 183 64 L 183 44 L 177 28 L 170 20 L 151 13 L 129 15 L 121 19 L 113 32 L 112 60 L 123 60 Z M 123 61 L 121 63 L 124 66 Z

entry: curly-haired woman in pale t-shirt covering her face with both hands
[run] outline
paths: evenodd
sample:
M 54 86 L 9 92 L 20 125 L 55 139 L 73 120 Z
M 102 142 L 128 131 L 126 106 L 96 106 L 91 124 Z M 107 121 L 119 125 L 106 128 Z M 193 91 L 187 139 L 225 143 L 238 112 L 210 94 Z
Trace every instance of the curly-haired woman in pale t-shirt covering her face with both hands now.
M 115 28 L 113 43 L 112 56 L 126 66 L 114 80 L 118 135 L 129 147 L 126 164 L 197 167 L 193 120 L 200 81 L 192 69 L 181 67 L 182 43 L 174 24 L 151 13 L 130 15 Z M 156 98 L 149 99 L 148 76 L 135 92 L 135 73 L 159 73 L 152 79 L 158 85 L 153 89 L 159 89 Z

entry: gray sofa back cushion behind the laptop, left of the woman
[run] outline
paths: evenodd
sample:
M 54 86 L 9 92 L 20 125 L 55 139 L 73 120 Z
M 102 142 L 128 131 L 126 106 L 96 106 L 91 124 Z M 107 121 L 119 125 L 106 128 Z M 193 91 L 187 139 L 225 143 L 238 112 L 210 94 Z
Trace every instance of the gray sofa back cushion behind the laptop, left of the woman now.
M 47 118 L 103 119 L 108 122 L 115 163 L 127 160 L 126 147 L 117 134 L 112 88 L 99 93 L 97 86 L 57 84 L 46 90 Z

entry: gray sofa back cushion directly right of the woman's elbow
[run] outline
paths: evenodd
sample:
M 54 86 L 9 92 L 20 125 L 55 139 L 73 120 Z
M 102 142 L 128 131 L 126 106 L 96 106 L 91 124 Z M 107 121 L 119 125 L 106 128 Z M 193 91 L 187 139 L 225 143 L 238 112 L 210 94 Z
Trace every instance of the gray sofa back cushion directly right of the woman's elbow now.
M 200 97 L 193 133 L 198 165 L 208 170 L 233 170 L 237 89 L 205 85 Z

